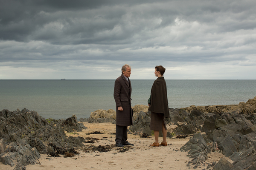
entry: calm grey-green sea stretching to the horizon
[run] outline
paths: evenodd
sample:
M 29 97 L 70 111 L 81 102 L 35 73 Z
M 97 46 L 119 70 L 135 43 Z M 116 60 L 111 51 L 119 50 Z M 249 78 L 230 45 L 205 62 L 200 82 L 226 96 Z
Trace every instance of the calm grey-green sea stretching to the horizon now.
M 0 111 L 26 108 L 45 119 L 88 118 L 115 110 L 114 79 L 0 80 Z M 154 79 L 131 79 L 131 102 L 147 105 Z M 169 108 L 238 105 L 256 96 L 256 80 L 167 79 Z

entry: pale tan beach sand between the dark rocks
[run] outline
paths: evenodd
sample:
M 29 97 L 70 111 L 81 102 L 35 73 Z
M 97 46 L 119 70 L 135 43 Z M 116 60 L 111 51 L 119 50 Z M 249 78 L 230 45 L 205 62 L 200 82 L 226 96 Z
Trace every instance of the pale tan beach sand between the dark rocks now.
M 115 144 L 115 125 L 111 123 L 88 123 L 84 122 L 84 126 L 89 127 L 79 134 L 67 133 L 67 136 L 82 136 L 90 138 L 98 138 L 96 143 L 84 143 L 87 148 L 93 146 L 113 146 Z M 100 131 L 104 134 L 88 134 L 94 131 Z M 74 157 L 64 158 L 49 157 L 41 154 L 41 158 L 35 165 L 26 166 L 27 170 L 155 170 L 155 169 L 170 169 L 170 170 L 188 170 L 193 169 L 194 165 L 190 164 L 187 167 L 188 161 L 191 161 L 187 156 L 187 152 L 180 151 L 182 147 L 192 136 L 183 139 L 167 138 L 168 146 L 150 147 L 154 142 L 154 136 L 149 138 L 141 138 L 140 136 L 128 134 L 128 142 L 134 146 L 125 148 L 113 147 L 109 152 L 86 151 L 78 150 L 79 155 Z M 162 138 L 159 138 L 162 141 Z M 125 151 L 126 150 L 126 151 Z M 125 151 L 125 152 L 122 152 Z M 218 162 L 222 157 L 221 153 L 212 152 L 208 155 L 209 159 L 205 162 L 205 166 L 201 164 L 197 169 L 206 169 L 207 164 L 212 164 L 213 161 Z M 232 161 L 225 157 L 228 161 Z M 10 165 L 3 165 L 0 162 L 0 170 L 13 170 Z M 211 168 L 212 169 L 212 168 Z

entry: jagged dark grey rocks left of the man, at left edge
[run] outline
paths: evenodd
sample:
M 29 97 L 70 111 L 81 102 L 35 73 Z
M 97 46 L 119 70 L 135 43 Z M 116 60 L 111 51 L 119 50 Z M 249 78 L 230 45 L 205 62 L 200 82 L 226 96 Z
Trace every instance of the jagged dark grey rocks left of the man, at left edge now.
M 81 131 L 76 116 L 64 120 L 44 119 L 35 111 L 0 111 L 0 161 L 26 169 L 35 164 L 40 153 L 55 155 L 56 148 L 72 150 L 83 146 L 81 137 L 67 137 L 64 130 Z

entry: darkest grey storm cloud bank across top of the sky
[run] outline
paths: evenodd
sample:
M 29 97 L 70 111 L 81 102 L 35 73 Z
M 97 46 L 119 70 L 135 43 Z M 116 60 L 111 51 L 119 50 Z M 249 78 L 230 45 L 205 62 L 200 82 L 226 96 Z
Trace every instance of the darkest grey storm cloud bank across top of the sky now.
M 139 34 L 146 36 L 145 39 L 150 38 L 145 34 L 172 25 L 177 17 L 210 25 L 216 22 L 218 28 L 214 31 L 252 29 L 256 26 L 253 17 L 255 3 L 251 1 L 152 2 L 3 0 L 0 37 L 21 42 L 43 40 L 52 44 L 129 44 Z M 224 22 L 221 23 L 218 17 L 223 16 Z M 161 21 L 152 24 L 154 19 Z M 115 28 L 119 29 L 118 34 L 107 34 Z

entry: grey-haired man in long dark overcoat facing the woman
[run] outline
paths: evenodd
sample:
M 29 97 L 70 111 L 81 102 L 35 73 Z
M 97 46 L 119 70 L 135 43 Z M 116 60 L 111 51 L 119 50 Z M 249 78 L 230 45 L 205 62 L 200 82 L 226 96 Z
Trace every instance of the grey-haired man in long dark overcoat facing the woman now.
M 127 141 L 127 127 L 132 125 L 131 109 L 131 66 L 123 65 L 122 74 L 115 81 L 114 99 L 116 102 L 116 146 L 134 145 Z

